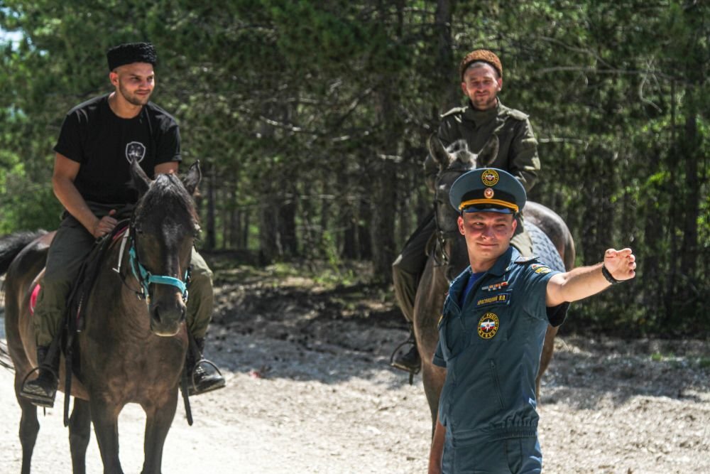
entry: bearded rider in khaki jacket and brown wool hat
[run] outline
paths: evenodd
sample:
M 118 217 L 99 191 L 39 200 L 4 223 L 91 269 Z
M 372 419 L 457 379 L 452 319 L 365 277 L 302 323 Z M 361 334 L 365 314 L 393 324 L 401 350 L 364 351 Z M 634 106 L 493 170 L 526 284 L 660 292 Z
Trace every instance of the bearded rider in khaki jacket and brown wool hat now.
M 500 168 L 515 176 L 529 192 L 540 172 L 537 140 L 532 133 L 528 115 L 501 103 L 498 92 L 503 88 L 503 65 L 489 50 L 474 50 L 459 65 L 461 91 L 466 105 L 455 107 L 442 115 L 437 136 L 444 146 L 465 140 L 469 150 L 479 152 L 491 136 L 498 137 L 498 155 L 487 166 Z M 439 171 L 431 156 L 425 161 L 427 184 L 433 188 Z M 419 279 L 427 262 L 425 246 L 436 230 L 434 216 L 428 216 L 417 227 L 392 265 L 395 297 L 410 324 L 414 316 L 414 301 Z M 532 254 L 532 241 L 518 220 L 518 229 L 511 241 L 521 254 Z M 414 338 L 409 352 L 400 352 L 392 365 L 409 372 L 418 372 L 421 359 Z

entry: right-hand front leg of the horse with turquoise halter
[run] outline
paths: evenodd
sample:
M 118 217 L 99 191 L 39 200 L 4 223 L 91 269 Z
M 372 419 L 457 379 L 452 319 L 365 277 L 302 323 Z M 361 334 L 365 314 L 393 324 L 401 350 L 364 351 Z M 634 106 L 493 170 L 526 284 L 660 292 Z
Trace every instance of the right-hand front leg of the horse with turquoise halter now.
M 146 411 L 146 438 L 143 442 L 146 459 L 141 474 L 160 474 L 165 437 L 168 436 L 178 406 L 178 388 L 174 387 L 168 393 L 163 403 L 143 405 Z

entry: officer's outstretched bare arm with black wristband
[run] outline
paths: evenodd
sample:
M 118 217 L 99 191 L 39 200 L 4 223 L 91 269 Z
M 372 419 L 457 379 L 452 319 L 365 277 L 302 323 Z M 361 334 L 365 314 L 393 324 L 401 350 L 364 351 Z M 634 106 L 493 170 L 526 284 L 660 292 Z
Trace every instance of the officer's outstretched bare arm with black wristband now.
M 606 269 L 609 281 L 603 274 Z M 547 282 L 547 306 L 557 306 L 565 301 L 577 301 L 592 296 L 612 285 L 612 281 L 630 280 L 635 276 L 636 257 L 631 249 L 608 249 L 603 263 L 581 266 L 567 273 L 556 274 Z

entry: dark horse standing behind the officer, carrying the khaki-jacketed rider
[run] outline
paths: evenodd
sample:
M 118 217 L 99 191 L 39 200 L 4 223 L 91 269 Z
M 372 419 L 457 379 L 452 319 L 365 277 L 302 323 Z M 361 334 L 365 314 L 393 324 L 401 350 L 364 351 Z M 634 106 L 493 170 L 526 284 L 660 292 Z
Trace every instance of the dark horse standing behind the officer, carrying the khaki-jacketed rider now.
M 427 402 L 432 413 L 432 426 L 436 423 L 439 409 L 439 395 L 444 384 L 444 371 L 432 364 L 432 357 L 439 343 L 437 322 L 444 306 L 444 298 L 452 281 L 461 271 L 469 266 L 466 242 L 459 234 L 458 212 L 449 203 L 449 189 L 456 178 L 466 171 L 488 166 L 498 153 L 498 139 L 493 136 L 481 153 L 474 155 L 465 141 L 457 141 L 444 149 L 438 139 L 432 137 L 429 150 L 439 163 L 439 173 L 435 183 L 435 219 L 437 221 L 437 239 L 435 248 L 430 252 L 424 273 L 417 288 L 414 308 L 414 333 L 422 357 L 422 382 Z M 543 262 L 554 266 L 552 259 L 558 262 L 558 269 L 572 269 L 574 266 L 574 242 L 562 217 L 545 206 L 528 201 L 523 210 L 525 228 L 530 232 L 535 252 Z M 545 237 L 547 236 L 547 237 Z M 551 242 L 550 242 L 551 241 Z M 547 243 L 550 250 L 545 254 Z M 554 246 L 554 247 L 553 247 Z M 555 254 L 555 249 L 559 255 Z M 552 359 L 553 343 L 557 328 L 547 327 L 545 345 L 540 357 L 540 371 L 537 374 L 536 388 L 540 393 L 540 379 Z

